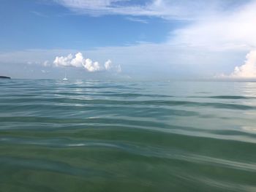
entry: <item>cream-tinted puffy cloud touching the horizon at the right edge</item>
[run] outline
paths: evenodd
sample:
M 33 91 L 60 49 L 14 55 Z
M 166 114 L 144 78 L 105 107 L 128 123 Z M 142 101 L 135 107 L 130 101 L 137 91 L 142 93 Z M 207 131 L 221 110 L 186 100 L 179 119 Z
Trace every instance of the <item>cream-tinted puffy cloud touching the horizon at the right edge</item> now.
M 242 66 L 236 66 L 230 77 L 256 78 L 256 50 L 252 50 L 246 55 L 244 64 Z

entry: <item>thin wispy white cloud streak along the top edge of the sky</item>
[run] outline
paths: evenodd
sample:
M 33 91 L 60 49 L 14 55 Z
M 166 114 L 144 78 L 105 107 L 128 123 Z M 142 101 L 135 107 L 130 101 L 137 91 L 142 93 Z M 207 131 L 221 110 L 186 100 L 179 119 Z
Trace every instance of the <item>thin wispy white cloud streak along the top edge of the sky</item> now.
M 215 9 L 226 9 L 239 0 L 53 0 L 58 4 L 86 15 L 132 15 L 165 19 L 194 20 L 199 15 L 211 14 Z M 244 0 L 245 3 L 248 0 Z M 241 4 L 241 1 L 239 1 Z

